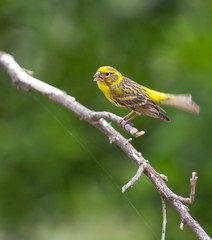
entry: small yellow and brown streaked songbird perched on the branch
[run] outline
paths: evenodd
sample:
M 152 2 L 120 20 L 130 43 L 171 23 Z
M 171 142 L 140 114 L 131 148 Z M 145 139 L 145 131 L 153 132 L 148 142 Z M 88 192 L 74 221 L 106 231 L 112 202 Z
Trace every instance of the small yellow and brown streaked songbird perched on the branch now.
M 192 101 L 191 94 L 168 94 L 151 90 L 122 76 L 113 67 L 100 67 L 94 75 L 94 81 L 110 102 L 118 107 L 132 110 L 123 120 L 127 120 L 130 115 L 136 113 L 128 119 L 128 122 L 140 114 L 170 121 L 159 104 L 180 108 L 194 114 L 199 113 L 199 106 Z

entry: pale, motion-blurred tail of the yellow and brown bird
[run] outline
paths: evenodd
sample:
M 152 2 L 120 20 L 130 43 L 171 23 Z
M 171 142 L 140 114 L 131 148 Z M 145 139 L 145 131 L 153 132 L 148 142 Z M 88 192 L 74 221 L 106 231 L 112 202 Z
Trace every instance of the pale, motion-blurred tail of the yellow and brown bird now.
M 180 108 L 194 114 L 198 114 L 200 111 L 199 106 L 192 101 L 191 94 L 165 94 L 165 99 L 160 103 Z

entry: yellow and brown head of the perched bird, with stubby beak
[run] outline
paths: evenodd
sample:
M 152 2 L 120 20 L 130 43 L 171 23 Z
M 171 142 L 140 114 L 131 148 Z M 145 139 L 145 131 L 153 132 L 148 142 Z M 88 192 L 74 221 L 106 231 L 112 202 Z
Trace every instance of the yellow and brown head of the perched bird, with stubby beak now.
M 112 87 L 118 84 L 122 79 L 122 75 L 115 68 L 104 66 L 100 67 L 94 74 L 94 81 L 98 84 L 106 84 L 108 87 Z

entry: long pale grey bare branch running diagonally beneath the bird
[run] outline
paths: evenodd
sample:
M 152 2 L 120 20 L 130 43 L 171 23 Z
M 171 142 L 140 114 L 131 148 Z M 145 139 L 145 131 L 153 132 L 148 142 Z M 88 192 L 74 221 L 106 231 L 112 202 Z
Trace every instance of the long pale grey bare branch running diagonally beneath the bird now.
M 189 226 L 199 239 L 202 239 L 202 240 L 211 239 L 207 235 L 207 233 L 203 230 L 203 228 L 199 225 L 199 223 L 191 217 L 191 215 L 188 213 L 187 207 L 180 201 L 181 199 L 177 199 L 177 197 L 173 198 L 173 196 L 177 196 L 177 195 L 174 194 L 167 187 L 164 180 L 161 178 L 160 174 L 157 173 L 149 164 L 149 162 L 142 156 L 142 154 L 138 152 L 132 146 L 132 144 L 130 144 L 129 140 L 124 138 L 119 132 L 117 132 L 111 126 L 111 124 L 109 124 L 104 119 L 104 118 L 107 118 L 117 122 L 117 120 L 119 120 L 120 117 L 112 113 L 106 113 L 106 112 L 96 113 L 94 111 L 91 111 L 90 109 L 81 105 L 79 102 L 75 100 L 74 97 L 69 96 L 64 91 L 59 90 L 53 86 L 50 86 L 49 84 L 44 83 L 27 74 L 27 72 L 24 71 L 16 63 L 13 57 L 9 54 L 0 52 L 0 66 L 10 76 L 10 78 L 12 79 L 12 83 L 17 88 L 28 91 L 28 92 L 32 92 L 32 91 L 39 92 L 44 96 L 46 96 L 47 98 L 49 98 L 51 101 L 54 101 L 66 107 L 71 112 L 76 114 L 80 119 L 87 121 L 91 125 L 98 128 L 101 132 L 103 132 L 110 139 L 110 141 L 114 142 L 117 146 L 119 146 L 122 149 L 122 151 L 124 151 L 137 166 L 141 166 L 142 164 L 144 164 L 143 173 L 152 181 L 152 183 L 155 185 L 155 187 L 157 188 L 161 196 L 167 199 L 171 203 L 171 205 L 175 208 L 175 210 L 181 217 L 181 222 Z M 133 127 L 130 125 L 127 126 L 127 124 L 125 125 L 125 129 L 129 133 L 130 131 L 134 131 L 132 130 Z M 195 183 L 193 185 L 195 186 Z M 195 189 L 195 187 L 193 187 L 193 189 Z M 192 193 L 191 196 L 193 195 L 194 194 Z

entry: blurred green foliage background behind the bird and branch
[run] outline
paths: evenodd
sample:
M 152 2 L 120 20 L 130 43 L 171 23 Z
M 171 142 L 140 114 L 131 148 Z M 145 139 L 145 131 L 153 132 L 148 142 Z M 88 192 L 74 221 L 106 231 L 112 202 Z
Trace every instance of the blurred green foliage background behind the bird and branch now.
M 212 1 L 0 0 L 0 49 L 90 109 L 124 116 L 93 82 L 102 65 L 143 85 L 192 93 L 201 114 L 166 107 L 172 122 L 147 116 L 133 145 L 188 196 L 212 235 Z M 124 136 L 129 135 L 117 128 Z M 0 239 L 160 239 L 161 201 L 136 166 L 97 129 L 37 93 L 17 91 L 0 71 Z M 197 239 L 167 205 L 167 239 Z

